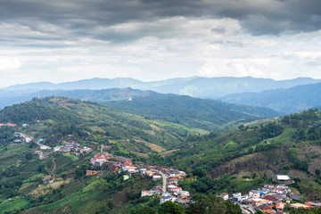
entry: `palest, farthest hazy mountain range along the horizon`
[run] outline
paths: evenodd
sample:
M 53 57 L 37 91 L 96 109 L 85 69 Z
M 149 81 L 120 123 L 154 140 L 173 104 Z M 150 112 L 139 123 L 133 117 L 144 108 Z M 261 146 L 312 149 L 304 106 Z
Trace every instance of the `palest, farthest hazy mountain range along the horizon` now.
M 217 98 L 219 96 L 243 93 L 261 92 L 276 88 L 307 85 L 320 82 L 320 79 L 295 78 L 276 81 L 269 78 L 171 78 L 161 81 L 143 82 L 133 78 L 92 78 L 75 82 L 53 84 L 49 82 L 21 84 L 4 88 L 8 91 L 17 90 L 74 90 L 74 89 L 107 89 L 114 87 L 132 87 L 152 90 L 160 93 L 191 95 L 202 98 Z

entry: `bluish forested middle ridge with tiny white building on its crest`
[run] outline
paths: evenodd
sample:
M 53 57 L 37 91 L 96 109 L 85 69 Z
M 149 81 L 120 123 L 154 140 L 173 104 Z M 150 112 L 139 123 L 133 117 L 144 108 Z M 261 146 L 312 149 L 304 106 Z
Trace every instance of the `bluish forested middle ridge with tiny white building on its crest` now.
M 114 109 L 138 114 L 147 119 L 162 119 L 189 128 L 202 128 L 206 130 L 213 130 L 218 128 L 218 126 L 235 121 L 250 121 L 278 115 L 278 112 L 267 108 L 246 107 L 183 95 L 164 95 L 132 88 L 70 91 L 46 90 L 23 95 L 21 98 L 9 98 L 9 100 L 4 98 L 2 103 L 6 104 L 10 101 L 19 103 L 21 100 L 28 101 L 33 97 L 51 95 L 106 104 Z M 128 100 L 131 102 L 128 102 Z

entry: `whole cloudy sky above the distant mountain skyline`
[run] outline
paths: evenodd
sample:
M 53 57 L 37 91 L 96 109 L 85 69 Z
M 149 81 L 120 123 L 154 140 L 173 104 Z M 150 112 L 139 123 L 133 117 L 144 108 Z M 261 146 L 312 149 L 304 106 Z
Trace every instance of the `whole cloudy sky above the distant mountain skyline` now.
M 1 0 L 0 87 L 321 78 L 319 0 Z

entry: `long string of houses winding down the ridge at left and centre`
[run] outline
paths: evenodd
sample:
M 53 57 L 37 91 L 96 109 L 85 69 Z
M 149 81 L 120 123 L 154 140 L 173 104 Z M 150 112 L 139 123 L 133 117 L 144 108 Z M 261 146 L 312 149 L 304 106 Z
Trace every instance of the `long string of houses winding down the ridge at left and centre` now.
M 13 126 L 13 124 L 10 125 Z M 35 151 L 39 160 L 45 160 L 52 152 L 62 152 L 63 154 L 72 153 L 77 156 L 79 154 L 93 152 L 92 148 L 81 146 L 81 144 L 71 140 L 71 135 L 68 136 L 69 141 L 62 141 L 60 145 L 54 146 L 53 148 L 43 144 L 45 139 L 42 138 L 35 140 L 33 136 L 28 136 L 20 132 L 14 133 L 14 136 L 16 139 L 13 140 L 13 145 L 30 143 L 34 140 L 40 149 Z M 127 174 L 123 176 L 124 180 L 128 180 L 134 174 L 150 177 L 153 181 L 162 180 L 162 185 L 156 185 L 151 190 L 142 190 L 142 197 L 156 196 L 160 198 L 161 203 L 171 201 L 187 204 L 190 202 L 190 193 L 178 186 L 178 181 L 185 178 L 184 171 L 150 165 L 134 165 L 130 158 L 121 156 L 114 157 L 111 153 L 104 151 L 111 150 L 111 145 L 103 144 L 99 146 L 99 149 L 100 152 L 95 153 L 94 157 L 90 160 L 90 164 L 96 168 L 102 169 L 105 167 L 109 172 L 113 173 L 127 172 Z M 54 159 L 53 165 L 55 165 Z M 51 176 L 43 179 L 44 183 L 51 184 L 54 182 L 54 168 L 55 166 L 53 167 Z M 86 170 L 86 176 L 103 177 L 105 173 L 106 172 L 102 170 Z

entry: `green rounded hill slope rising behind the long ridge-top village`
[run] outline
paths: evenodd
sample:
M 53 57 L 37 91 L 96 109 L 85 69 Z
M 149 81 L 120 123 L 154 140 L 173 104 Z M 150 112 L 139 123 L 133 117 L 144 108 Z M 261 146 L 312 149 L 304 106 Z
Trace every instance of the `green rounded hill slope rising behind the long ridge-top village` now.
M 183 144 L 188 137 L 199 134 L 177 124 L 144 119 L 111 110 L 107 106 L 62 97 L 35 98 L 27 103 L 5 107 L 0 111 L 0 120 L 20 125 L 37 124 L 39 121 L 38 124 L 45 126 L 45 132 L 37 135 L 52 135 L 54 139 L 59 136 L 57 134 L 69 134 L 83 137 L 84 141 L 88 136 L 95 137 L 91 134 L 97 134 L 98 143 L 114 140 L 126 144 L 129 140 L 136 140 L 158 144 L 165 149 Z M 139 147 L 142 146 L 145 147 L 144 144 Z M 135 150 L 148 149 L 143 147 Z

